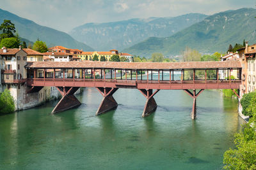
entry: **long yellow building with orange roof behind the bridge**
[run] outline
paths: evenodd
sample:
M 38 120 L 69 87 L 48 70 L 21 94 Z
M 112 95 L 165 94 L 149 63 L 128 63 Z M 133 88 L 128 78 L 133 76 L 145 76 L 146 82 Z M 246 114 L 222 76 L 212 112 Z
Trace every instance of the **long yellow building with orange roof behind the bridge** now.
M 100 60 L 100 57 L 105 57 L 106 61 L 109 61 L 112 55 L 119 55 L 118 50 L 110 50 L 109 52 L 82 52 L 77 55 L 77 57 L 80 58 L 80 60 L 92 60 L 94 55 L 98 56 L 98 59 Z

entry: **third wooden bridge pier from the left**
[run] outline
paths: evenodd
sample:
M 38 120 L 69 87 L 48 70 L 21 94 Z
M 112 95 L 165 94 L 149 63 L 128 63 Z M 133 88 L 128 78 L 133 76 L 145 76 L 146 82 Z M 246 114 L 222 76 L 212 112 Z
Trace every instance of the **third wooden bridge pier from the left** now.
M 157 94 L 157 92 L 159 92 L 159 89 L 157 89 L 154 93 L 153 93 L 153 89 L 139 89 L 139 90 L 141 94 L 143 94 L 143 96 L 147 98 L 141 117 L 147 117 L 148 115 L 150 115 L 150 113 L 154 112 L 157 108 L 157 104 L 154 99 L 154 96 L 155 94 Z

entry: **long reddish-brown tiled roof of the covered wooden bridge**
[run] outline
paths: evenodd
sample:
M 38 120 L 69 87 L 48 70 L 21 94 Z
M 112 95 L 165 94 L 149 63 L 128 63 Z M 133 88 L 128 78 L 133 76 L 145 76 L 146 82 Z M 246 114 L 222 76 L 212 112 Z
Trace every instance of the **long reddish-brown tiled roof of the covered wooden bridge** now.
M 241 68 L 239 61 L 206 61 L 206 62 L 99 62 L 99 61 L 70 61 L 28 62 L 28 68 L 106 68 L 106 69 L 214 69 Z

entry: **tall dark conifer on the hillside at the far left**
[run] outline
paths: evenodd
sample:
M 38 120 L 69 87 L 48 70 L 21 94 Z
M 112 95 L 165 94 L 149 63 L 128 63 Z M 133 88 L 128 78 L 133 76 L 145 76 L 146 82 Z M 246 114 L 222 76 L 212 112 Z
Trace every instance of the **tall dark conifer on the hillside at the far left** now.
M 4 22 L 0 25 L 0 31 L 3 32 L 2 34 L 0 34 L 1 39 L 12 38 L 14 37 L 13 33 L 16 32 L 15 25 L 12 24 L 10 20 L 4 20 Z

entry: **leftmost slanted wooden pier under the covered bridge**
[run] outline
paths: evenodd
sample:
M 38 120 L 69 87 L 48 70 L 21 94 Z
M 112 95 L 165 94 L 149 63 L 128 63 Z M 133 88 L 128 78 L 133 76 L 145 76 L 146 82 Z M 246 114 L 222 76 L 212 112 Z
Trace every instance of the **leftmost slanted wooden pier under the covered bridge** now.
M 56 87 L 62 96 L 59 103 L 52 110 L 52 114 L 69 110 L 80 106 L 81 103 L 78 101 L 74 93 L 79 89 L 79 87 Z

